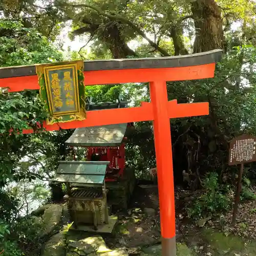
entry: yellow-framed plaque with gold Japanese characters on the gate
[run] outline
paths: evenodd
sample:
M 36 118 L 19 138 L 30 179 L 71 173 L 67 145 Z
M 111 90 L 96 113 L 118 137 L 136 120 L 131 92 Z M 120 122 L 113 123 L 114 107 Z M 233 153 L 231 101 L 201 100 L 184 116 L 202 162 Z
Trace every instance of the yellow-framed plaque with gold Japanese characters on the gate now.
M 36 72 L 50 123 L 86 118 L 83 61 L 40 65 Z

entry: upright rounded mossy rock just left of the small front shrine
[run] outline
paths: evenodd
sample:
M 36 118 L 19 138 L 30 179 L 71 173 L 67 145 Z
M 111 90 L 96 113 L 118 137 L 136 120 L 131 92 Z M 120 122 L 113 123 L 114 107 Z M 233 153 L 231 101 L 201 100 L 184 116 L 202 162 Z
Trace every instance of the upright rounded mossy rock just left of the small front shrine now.
M 44 222 L 44 234 L 49 234 L 54 230 L 61 220 L 62 210 L 63 207 L 58 204 L 52 204 L 45 210 L 45 213 L 42 216 L 42 221 Z

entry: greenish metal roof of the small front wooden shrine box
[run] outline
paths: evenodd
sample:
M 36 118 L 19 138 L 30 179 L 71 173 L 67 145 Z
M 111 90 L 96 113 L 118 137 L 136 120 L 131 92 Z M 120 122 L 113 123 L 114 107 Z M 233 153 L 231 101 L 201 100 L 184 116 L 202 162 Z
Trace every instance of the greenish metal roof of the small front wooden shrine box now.
M 102 185 L 108 161 L 59 161 L 54 177 L 58 182 L 74 182 L 88 185 Z

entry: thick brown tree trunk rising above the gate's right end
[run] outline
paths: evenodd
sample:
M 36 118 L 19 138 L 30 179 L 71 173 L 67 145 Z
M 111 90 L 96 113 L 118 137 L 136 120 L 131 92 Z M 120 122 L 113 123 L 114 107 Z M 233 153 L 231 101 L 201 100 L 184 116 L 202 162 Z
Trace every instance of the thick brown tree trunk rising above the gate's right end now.
M 195 20 L 194 53 L 223 49 L 221 9 L 214 0 L 196 0 L 191 4 Z

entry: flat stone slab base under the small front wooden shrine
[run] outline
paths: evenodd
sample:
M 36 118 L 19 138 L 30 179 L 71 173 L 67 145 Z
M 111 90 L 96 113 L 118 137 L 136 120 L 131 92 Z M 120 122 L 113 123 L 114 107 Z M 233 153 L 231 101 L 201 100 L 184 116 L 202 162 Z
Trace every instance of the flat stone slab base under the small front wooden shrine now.
M 78 225 L 77 228 L 74 224 L 70 227 L 71 230 L 87 231 L 90 233 L 112 233 L 118 218 L 116 216 L 109 216 L 109 224 L 98 225 L 98 229 L 95 230 L 93 225 Z

